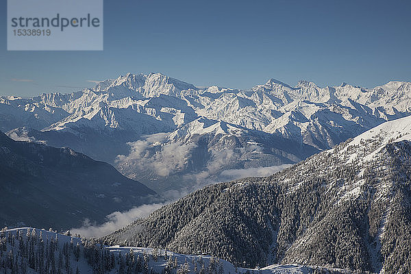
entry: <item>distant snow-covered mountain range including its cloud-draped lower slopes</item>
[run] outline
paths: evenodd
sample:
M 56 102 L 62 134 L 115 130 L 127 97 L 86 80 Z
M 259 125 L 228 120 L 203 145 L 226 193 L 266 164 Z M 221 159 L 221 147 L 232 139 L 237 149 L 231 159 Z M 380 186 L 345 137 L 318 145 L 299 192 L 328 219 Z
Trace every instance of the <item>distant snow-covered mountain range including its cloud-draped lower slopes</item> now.
M 69 95 L 0 97 L 10 137 L 71 147 L 157 191 L 192 178 L 268 175 L 410 113 L 409 82 L 321 88 L 269 79 L 236 90 L 127 73 Z

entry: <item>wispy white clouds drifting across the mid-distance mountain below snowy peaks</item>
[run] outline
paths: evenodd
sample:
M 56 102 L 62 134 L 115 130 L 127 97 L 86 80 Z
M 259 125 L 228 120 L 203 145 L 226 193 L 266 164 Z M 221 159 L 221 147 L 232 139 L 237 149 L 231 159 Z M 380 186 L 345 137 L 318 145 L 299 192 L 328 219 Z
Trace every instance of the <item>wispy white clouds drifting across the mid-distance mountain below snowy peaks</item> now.
M 118 155 L 116 165 L 125 175 L 133 175 L 138 171 L 151 172 L 158 177 L 177 175 L 181 178 L 177 188 L 183 192 L 192 192 L 208 184 L 224 182 L 243 177 L 264 177 L 281 171 L 290 164 L 276 166 L 239 168 L 256 155 L 264 153 L 259 145 L 249 144 L 245 147 L 216 149 L 200 152 L 196 142 L 168 140 L 167 134 L 153 134 L 145 136 L 143 140 L 128 143 L 130 150 L 128 155 Z M 203 154 L 193 154 L 203 153 Z M 203 158 L 203 166 L 192 166 L 192 160 Z M 191 161 L 191 162 L 190 162 Z M 191 164 L 191 166 L 190 166 Z M 201 164 L 201 163 L 199 163 Z M 232 169 L 228 169 L 231 167 Z M 138 178 L 134 178 L 138 179 Z M 188 186 L 183 189 L 184 186 Z M 171 196 L 175 196 L 174 193 Z M 180 196 L 181 197 L 181 196 Z

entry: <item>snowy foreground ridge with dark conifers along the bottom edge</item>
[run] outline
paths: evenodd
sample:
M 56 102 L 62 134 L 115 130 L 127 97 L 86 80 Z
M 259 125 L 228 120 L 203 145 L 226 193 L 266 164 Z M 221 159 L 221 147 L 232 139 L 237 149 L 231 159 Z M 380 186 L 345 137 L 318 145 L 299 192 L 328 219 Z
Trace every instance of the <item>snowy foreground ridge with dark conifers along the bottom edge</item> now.
M 204 254 L 183 255 L 164 249 L 102 246 L 69 233 L 21 227 L 0 232 L 1 273 L 331 273 L 316 266 L 271 265 L 245 269 Z M 332 273 L 349 273 L 334 269 Z

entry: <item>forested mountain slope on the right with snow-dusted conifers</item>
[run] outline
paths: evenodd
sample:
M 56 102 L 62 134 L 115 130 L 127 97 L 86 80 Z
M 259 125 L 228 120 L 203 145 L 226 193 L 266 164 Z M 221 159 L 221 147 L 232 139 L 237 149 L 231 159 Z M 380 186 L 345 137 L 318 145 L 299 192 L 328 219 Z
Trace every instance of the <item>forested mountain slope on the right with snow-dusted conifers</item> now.
M 234 264 L 411 273 L 411 116 L 270 177 L 214 184 L 103 238 Z

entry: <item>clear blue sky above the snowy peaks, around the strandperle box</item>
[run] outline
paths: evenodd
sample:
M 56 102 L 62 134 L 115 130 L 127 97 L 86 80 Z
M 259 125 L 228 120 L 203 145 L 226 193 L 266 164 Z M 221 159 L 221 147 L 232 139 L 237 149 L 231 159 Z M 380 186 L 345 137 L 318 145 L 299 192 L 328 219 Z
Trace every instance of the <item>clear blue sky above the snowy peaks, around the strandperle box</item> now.
M 7 51 L 0 95 L 73 92 L 127 72 L 250 88 L 411 82 L 411 1 L 105 0 L 104 51 Z

